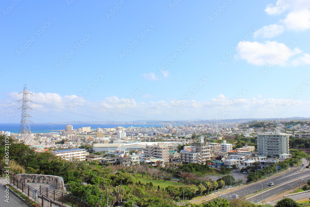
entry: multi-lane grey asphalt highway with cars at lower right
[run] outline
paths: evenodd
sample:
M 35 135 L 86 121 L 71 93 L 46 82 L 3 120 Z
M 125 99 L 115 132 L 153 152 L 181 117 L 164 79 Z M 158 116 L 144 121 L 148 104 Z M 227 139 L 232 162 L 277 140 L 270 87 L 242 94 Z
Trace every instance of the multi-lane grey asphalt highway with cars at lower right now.
M 305 163 L 307 165 L 308 162 L 306 159 L 303 158 L 302 163 Z M 287 173 L 284 173 L 284 174 L 281 174 L 275 177 L 270 177 L 270 179 L 265 179 L 263 181 L 256 182 L 255 184 L 250 184 L 249 186 L 242 187 L 240 189 L 229 191 L 227 193 L 224 193 L 224 195 L 237 194 L 238 197 L 249 196 L 250 194 L 255 193 L 255 191 L 262 190 L 262 188 L 269 189 L 267 191 L 264 190 L 263 193 L 259 193 L 247 199 L 255 203 L 260 202 L 262 200 L 265 200 L 269 197 L 276 195 L 278 192 L 281 192 L 281 191 L 284 191 L 290 188 L 290 185 L 296 186 L 298 184 L 297 181 L 299 181 L 299 179 L 305 179 L 305 181 L 310 179 L 309 169 L 299 172 L 300 169 L 304 169 L 304 168 L 305 167 L 299 166 L 298 168 L 290 172 L 287 172 Z M 270 182 L 273 182 L 274 186 L 268 186 Z

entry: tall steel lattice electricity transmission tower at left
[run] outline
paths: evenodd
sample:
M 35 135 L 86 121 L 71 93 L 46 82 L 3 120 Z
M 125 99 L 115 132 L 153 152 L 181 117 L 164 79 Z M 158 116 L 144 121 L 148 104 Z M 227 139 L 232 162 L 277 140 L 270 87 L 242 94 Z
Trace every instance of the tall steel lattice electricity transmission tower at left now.
M 20 130 L 19 130 L 19 134 L 20 134 L 20 138 L 24 139 L 25 142 L 29 142 L 30 141 L 30 137 L 31 137 L 31 131 L 30 131 L 30 125 L 29 123 L 32 123 L 32 121 L 30 121 L 30 118 L 32 116 L 30 116 L 28 113 L 30 110 L 32 110 L 32 108 L 30 108 L 28 106 L 28 102 L 32 102 L 29 100 L 28 95 L 30 94 L 30 96 L 32 95 L 31 92 L 29 92 L 27 90 L 27 85 L 25 84 L 24 86 L 24 91 L 20 92 L 19 94 L 23 94 L 23 98 L 20 99 L 19 101 L 23 101 L 23 105 L 20 107 L 21 110 L 21 120 L 20 120 Z

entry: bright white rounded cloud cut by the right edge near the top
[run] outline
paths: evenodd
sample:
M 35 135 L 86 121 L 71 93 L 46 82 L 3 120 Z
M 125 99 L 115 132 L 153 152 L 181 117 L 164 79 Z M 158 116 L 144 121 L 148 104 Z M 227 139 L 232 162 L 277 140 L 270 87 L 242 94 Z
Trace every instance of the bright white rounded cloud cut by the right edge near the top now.
M 310 11 L 307 9 L 292 11 L 282 22 L 286 25 L 286 28 L 290 30 L 304 31 L 310 29 Z

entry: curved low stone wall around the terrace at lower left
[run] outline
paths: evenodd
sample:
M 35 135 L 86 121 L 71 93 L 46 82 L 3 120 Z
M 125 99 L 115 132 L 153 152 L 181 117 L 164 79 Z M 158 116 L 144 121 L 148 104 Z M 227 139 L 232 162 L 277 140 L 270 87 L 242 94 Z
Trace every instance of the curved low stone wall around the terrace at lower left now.
M 66 192 L 64 187 L 64 178 L 55 175 L 39 175 L 39 174 L 18 174 L 25 178 L 25 182 L 48 183 L 57 186 L 57 191 Z

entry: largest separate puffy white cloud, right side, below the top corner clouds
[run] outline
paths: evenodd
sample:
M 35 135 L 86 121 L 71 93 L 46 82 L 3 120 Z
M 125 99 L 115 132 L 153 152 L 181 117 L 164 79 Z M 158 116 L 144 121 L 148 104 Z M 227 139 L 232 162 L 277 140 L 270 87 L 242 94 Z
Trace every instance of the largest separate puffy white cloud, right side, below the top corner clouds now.
M 275 65 L 286 65 L 289 59 L 302 51 L 295 47 L 291 49 L 283 43 L 277 41 L 259 42 L 239 42 L 236 59 L 246 60 L 253 65 L 266 65 L 271 61 Z

